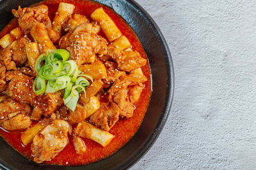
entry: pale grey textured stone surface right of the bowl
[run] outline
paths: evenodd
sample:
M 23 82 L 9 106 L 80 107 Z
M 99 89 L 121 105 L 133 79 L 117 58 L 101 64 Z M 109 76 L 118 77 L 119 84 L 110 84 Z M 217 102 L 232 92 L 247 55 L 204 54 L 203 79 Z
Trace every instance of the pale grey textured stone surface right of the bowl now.
M 136 0 L 175 69 L 172 111 L 131 169 L 256 168 L 256 1 Z

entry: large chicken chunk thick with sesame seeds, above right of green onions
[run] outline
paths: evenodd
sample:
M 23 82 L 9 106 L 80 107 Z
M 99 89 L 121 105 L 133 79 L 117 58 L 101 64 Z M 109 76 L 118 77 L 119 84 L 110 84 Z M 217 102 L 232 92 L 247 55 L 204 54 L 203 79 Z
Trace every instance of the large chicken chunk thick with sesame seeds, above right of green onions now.
M 92 32 L 92 24 L 80 24 L 60 39 L 60 48 L 66 48 L 78 66 L 94 62 L 95 53 L 104 52 L 106 46 L 106 41 Z

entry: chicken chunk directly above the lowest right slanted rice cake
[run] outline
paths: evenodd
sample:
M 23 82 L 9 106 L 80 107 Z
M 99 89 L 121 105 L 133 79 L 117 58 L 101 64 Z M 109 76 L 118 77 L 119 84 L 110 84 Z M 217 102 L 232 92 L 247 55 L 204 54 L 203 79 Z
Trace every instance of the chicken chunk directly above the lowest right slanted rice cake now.
M 111 103 L 110 106 L 101 103 L 99 110 L 90 117 L 90 121 L 105 131 L 109 131 L 118 121 L 119 112 L 120 110 L 115 103 Z

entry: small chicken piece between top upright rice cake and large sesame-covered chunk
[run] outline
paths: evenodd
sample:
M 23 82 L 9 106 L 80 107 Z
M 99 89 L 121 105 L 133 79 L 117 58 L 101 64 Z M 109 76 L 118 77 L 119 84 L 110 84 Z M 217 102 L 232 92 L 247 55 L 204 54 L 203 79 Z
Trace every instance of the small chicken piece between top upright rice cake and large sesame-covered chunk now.
M 89 19 L 84 15 L 76 13 L 68 20 L 68 24 L 64 28 L 64 31 L 73 31 L 78 25 L 84 23 L 89 23 Z

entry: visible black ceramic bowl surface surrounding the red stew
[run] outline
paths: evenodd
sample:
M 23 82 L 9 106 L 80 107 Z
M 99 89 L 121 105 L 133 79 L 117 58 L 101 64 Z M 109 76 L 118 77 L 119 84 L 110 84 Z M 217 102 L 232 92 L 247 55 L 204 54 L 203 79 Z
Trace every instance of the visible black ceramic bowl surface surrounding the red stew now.
M 156 23 L 133 0 L 96 0 L 121 15 L 132 29 L 148 55 L 152 71 L 152 96 L 140 129 L 114 155 L 85 166 L 42 166 L 15 152 L 0 138 L 0 166 L 5 169 L 127 169 L 154 144 L 168 118 L 173 99 L 173 63 L 168 45 Z M 12 20 L 12 8 L 29 6 L 38 0 L 0 0 L 0 30 Z

